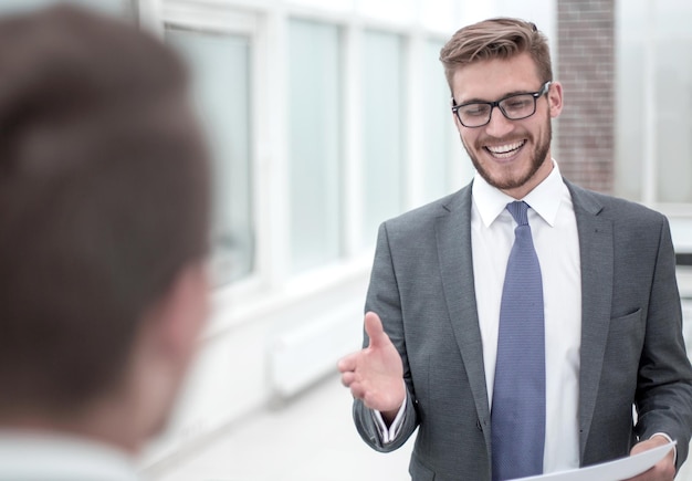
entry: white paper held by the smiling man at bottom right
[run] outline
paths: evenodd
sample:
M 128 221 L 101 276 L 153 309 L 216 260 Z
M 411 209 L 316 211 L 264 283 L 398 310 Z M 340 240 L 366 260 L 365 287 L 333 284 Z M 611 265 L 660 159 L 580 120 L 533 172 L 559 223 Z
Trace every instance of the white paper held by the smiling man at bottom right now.
M 647 471 L 661 459 L 665 458 L 665 454 L 668 454 L 674 446 L 675 441 L 659 446 L 658 448 L 649 449 L 648 451 L 642 451 L 635 456 L 616 459 L 615 461 L 608 461 L 601 464 L 587 466 L 586 468 L 553 472 L 549 474 L 532 475 L 521 479 L 522 481 L 618 481 Z

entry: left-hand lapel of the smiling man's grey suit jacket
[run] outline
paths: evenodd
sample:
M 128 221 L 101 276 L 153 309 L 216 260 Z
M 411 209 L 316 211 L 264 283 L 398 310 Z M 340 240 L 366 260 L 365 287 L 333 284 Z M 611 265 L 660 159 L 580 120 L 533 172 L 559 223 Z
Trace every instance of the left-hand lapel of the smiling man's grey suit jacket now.
M 490 408 L 471 257 L 471 186 L 452 197 L 445 209 L 436 223 L 444 299 L 479 419 L 487 422 L 483 435 L 490 452 Z

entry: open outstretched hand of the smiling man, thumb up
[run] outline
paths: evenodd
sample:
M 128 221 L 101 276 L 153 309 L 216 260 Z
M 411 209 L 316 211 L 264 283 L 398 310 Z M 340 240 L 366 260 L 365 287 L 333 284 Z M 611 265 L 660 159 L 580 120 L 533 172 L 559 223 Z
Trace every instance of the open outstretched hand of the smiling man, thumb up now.
M 370 338 L 368 347 L 338 362 L 342 383 L 354 397 L 391 421 L 406 399 L 401 357 L 374 312 L 365 315 L 365 332 Z

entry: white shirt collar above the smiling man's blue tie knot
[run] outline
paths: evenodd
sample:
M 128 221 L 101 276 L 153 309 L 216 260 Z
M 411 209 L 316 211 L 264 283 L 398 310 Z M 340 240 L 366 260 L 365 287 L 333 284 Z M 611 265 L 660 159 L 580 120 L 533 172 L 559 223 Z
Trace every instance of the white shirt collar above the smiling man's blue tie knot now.
M 521 200 L 524 200 L 533 210 L 541 216 L 551 227 L 555 226 L 555 219 L 559 205 L 567 191 L 567 186 L 563 181 L 559 168 L 555 159 L 553 161 L 553 170 L 541 184 L 538 184 L 531 192 Z M 475 174 L 473 178 L 472 197 L 481 220 L 485 227 L 490 227 L 500 216 L 507 203 L 516 200 L 507 196 L 502 190 L 491 186 L 480 174 Z

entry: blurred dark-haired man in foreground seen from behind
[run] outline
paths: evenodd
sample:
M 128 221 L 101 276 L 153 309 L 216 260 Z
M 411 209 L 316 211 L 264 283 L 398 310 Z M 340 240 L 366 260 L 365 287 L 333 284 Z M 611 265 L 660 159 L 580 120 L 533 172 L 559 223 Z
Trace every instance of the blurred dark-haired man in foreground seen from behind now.
M 0 479 L 134 480 L 207 315 L 180 61 L 71 7 L 0 19 Z

